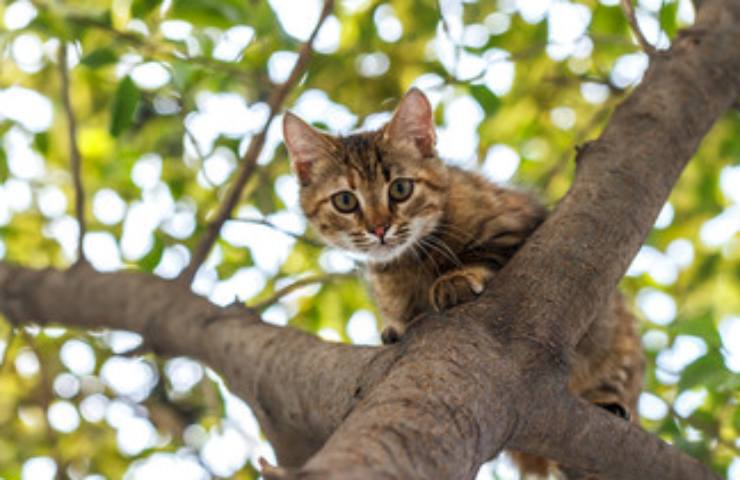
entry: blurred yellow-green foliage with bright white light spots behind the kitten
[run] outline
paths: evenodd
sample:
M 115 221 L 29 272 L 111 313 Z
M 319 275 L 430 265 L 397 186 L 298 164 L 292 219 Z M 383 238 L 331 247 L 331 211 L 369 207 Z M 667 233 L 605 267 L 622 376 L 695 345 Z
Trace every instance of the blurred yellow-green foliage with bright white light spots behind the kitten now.
M 300 46 L 276 15 L 273 6 L 278 3 L 16 0 L 0 4 L 0 16 L 5 18 L 0 31 L 0 92 L 8 95 L 17 93 L 12 90 L 16 87 L 29 89 L 53 106 L 50 125 L 38 128 L 24 120 L 28 118 L 25 107 L 16 107 L 13 113 L 0 106 L 0 257 L 29 266 L 65 267 L 73 261 L 74 244 L 68 244 L 70 238 L 74 241 L 73 187 L 55 53 L 59 42 L 65 41 L 74 60 L 71 96 L 84 183 L 91 199 L 89 236 L 97 239 L 91 240 L 89 248 L 86 245 L 86 251 L 101 269 L 176 274 L 222 197 L 226 174 L 238 165 L 246 142 L 262 127 L 264 101 L 279 83 L 278 73 L 272 70 L 281 58 L 292 58 L 286 52 Z M 306 8 L 311 10 L 316 3 L 306 2 Z M 616 1 L 559 2 L 577 5 L 588 25 L 573 39 L 575 47 L 564 52 L 561 48 L 560 53 L 562 45 L 554 44 L 552 37 L 555 20 L 517 11 L 517 5 L 525 3 L 443 1 L 440 8 L 434 1 L 338 1 L 330 17 L 335 33 L 338 29 L 336 41 L 314 55 L 289 104 L 324 92 L 323 103 L 306 107 L 317 113 L 312 120 L 332 126 L 337 112 L 351 112 L 354 117 L 343 128 L 357 128 L 373 114 L 392 109 L 415 82 L 437 103 L 440 125 L 454 132 L 455 124 L 469 122 L 456 110 L 462 99 L 465 105 L 476 105 L 481 118 L 468 142 L 474 144 L 477 157 L 482 161 L 493 145 L 511 147 L 520 157 L 512 181 L 538 191 L 548 205 L 554 205 L 570 184 L 574 147 L 598 135 L 613 107 L 639 81 L 640 71 L 625 80 L 630 69 L 620 70 L 620 65 L 627 61 L 639 65 L 644 60 Z M 678 1 L 665 1 L 657 9 L 655 3 L 641 2 L 638 11 L 659 24 L 668 41 L 683 25 L 685 13 L 682 17 Z M 27 21 L 18 20 L 23 18 L 19 9 L 31 12 Z M 251 37 L 246 47 L 224 53 L 222 44 L 232 41 L 233 50 L 233 36 L 239 35 Z M 445 55 L 446 59 L 440 58 Z M 463 69 L 465 62 L 474 66 Z M 502 65 L 513 68 L 510 88 L 486 76 L 505 76 Z M 231 125 L 211 132 L 206 138 L 208 129 L 198 126 L 194 118 L 208 108 L 207 94 L 215 93 L 234 95 L 223 98 L 227 107 L 243 99 L 256 120 L 247 121 L 251 126 Z M 295 212 L 295 204 L 285 193 L 291 187 L 278 186 L 289 182 L 289 168 L 279 138 L 270 138 L 238 215 L 286 229 L 281 218 L 286 208 Z M 28 144 L 23 152 L 19 142 Z M 445 151 L 454 152 L 455 142 L 455 138 L 447 140 Z M 41 158 L 40 171 L 24 167 L 24 162 L 33 163 L 28 155 Z M 209 162 L 228 167 L 223 178 L 206 174 Z M 643 425 L 723 475 L 740 451 L 740 367 L 736 360 L 734 370 L 730 368 L 730 347 L 719 330 L 721 322 L 740 315 L 740 240 L 737 225 L 725 225 L 731 235 L 717 243 L 702 240 L 700 232 L 717 219 L 729 218 L 730 223 L 738 219 L 730 210 L 740 207 L 733 205 L 727 192 L 740 190 L 740 175 L 722 175 L 723 169 L 738 164 L 740 115 L 734 112 L 706 137 L 673 192 L 665 218 L 650 234 L 649 248 L 641 255 L 652 263 L 632 270 L 623 282 L 623 289 L 638 304 L 640 298 L 654 299 L 656 292 L 663 301 L 657 316 L 648 311 L 655 308 L 654 303 L 653 307 L 649 301 L 635 306 L 643 320 L 649 356 L 646 392 L 651 395 L 641 409 Z M 224 169 L 211 171 L 223 173 Z M 141 216 L 134 215 L 141 207 L 163 208 L 166 215 L 155 219 L 144 234 L 143 246 L 137 247 L 126 236 L 132 234 L 128 230 L 148 228 L 140 224 Z M 286 254 L 265 265 L 260 263 L 264 254 L 259 247 L 249 239 L 240 242 L 242 230 L 234 231 L 224 233 L 196 280 L 199 293 L 220 303 L 232 300 L 234 294 L 250 304 L 270 303 L 275 291 L 296 278 L 327 273 L 332 281 L 279 299 L 266 310 L 266 318 L 349 341 L 353 334 L 347 319 L 357 310 L 374 312 L 361 281 L 343 273 L 352 265 L 342 265 L 348 261 L 338 261 L 335 252 L 316 246 L 310 232 L 293 231 L 296 239 L 280 233 L 277 226 L 254 224 L 244 230 L 277 235 L 287 242 Z M 127 247 L 128 243 L 134 246 Z M 112 251 L 106 245 L 112 245 Z M 660 296 L 661 292 L 666 295 Z M 678 312 L 675 319 L 670 315 L 671 304 Z M 669 315 L 663 318 L 660 312 L 666 308 Z M 132 346 L 117 347 L 110 333 L 35 327 L 13 333 L 8 323 L 1 325 L 0 338 L 5 341 L 0 343 L 4 347 L 0 477 L 20 478 L 24 468 L 28 477 L 28 459 L 49 457 L 69 478 L 99 478 L 86 477 L 92 474 L 122 478 L 127 470 L 131 474 L 137 461 L 168 452 L 178 458 L 189 455 L 202 478 L 256 478 L 248 460 L 253 462 L 266 447 L 256 432 L 243 426 L 237 430 L 247 445 L 246 453 L 231 466 L 214 466 L 209 460 L 209 435 L 217 436 L 234 423 L 227 408 L 234 400 L 219 386 L 215 374 L 196 375 L 197 382 L 180 391 L 173 387 L 178 378 L 174 367 L 168 370 L 166 365 L 171 364 L 165 359 L 150 354 L 129 358 L 124 352 Z M 732 331 L 738 334 L 737 329 Z M 94 355 L 87 372 L 75 371 L 69 361 L 62 361 L 63 345 L 79 341 Z M 37 368 L 32 368 L 34 359 Z M 122 391 L 110 378 L 115 374 L 105 375 L 111 360 L 116 360 L 111 364 L 116 368 L 144 365 L 152 374 L 151 383 L 133 393 Z M 124 364 L 128 367 L 121 367 Z M 677 365 L 677 370 L 671 371 L 670 365 Z M 65 389 L 65 382 L 69 388 Z M 88 399 L 93 396 L 108 405 L 104 414 L 88 411 L 92 408 Z M 691 408 L 686 407 L 692 401 Z M 67 407 L 82 412 L 79 425 L 60 429 L 50 420 L 58 402 L 65 403 L 66 410 L 60 411 L 67 412 L 62 415 L 67 420 L 78 415 L 70 414 Z M 116 420 L 121 409 L 128 409 L 126 418 L 144 419 L 156 428 L 156 438 L 145 448 L 122 447 L 130 441 L 122 439 L 127 434 Z

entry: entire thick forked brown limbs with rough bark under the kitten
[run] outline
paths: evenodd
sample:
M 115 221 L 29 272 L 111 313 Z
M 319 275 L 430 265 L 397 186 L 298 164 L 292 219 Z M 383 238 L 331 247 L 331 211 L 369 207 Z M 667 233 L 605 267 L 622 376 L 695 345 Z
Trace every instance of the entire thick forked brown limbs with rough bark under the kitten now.
M 652 58 L 547 222 L 478 301 L 400 344 L 329 344 L 221 309 L 174 282 L 80 265 L 0 263 L 14 322 L 114 327 L 200 359 L 255 410 L 290 478 L 472 478 L 502 448 L 615 479 L 716 478 L 565 387 L 569 351 L 604 304 L 702 137 L 740 93 L 740 2 L 704 0 Z

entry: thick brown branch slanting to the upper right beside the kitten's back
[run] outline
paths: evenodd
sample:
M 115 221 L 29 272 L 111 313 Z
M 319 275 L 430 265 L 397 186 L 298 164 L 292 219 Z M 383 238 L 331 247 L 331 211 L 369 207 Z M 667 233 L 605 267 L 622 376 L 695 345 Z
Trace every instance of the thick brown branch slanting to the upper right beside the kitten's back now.
M 516 328 L 573 347 L 647 236 L 684 166 L 740 92 L 740 4 L 706 0 L 696 26 L 583 148 L 575 181 L 490 292 Z

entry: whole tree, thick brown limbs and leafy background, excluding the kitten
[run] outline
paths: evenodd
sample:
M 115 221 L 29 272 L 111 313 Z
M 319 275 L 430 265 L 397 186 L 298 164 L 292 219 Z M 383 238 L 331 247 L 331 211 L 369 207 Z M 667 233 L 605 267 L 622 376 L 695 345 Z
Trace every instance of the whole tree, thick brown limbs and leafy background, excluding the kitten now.
M 626 8 L 646 53 L 622 10 L 595 1 L 326 1 L 305 17 L 280 2 L 89 3 L 4 7 L 1 475 L 116 478 L 185 445 L 169 458 L 191 472 L 256 476 L 209 460 L 215 427 L 234 431 L 219 421 L 231 397 L 183 356 L 251 407 L 281 465 L 271 477 L 471 478 L 503 448 L 605 478 L 727 471 L 740 431 L 738 167 L 725 166 L 740 159 L 740 118 L 724 115 L 740 92 L 736 2 L 697 2 L 681 32 L 686 3 Z M 557 208 L 476 302 L 394 346 L 321 340 L 346 340 L 352 312 L 373 307 L 346 260 L 285 212 L 275 119 L 293 105 L 332 129 L 373 124 L 412 81 L 437 96 L 443 155 L 479 153 L 504 181 L 519 166 Z M 267 248 L 255 231 L 271 232 Z M 569 349 L 646 238 L 623 287 L 646 317 L 653 434 L 564 388 Z M 291 297 L 307 285 L 312 298 Z M 142 343 L 126 351 L 130 337 L 102 328 Z M 178 365 L 195 381 L 178 383 Z

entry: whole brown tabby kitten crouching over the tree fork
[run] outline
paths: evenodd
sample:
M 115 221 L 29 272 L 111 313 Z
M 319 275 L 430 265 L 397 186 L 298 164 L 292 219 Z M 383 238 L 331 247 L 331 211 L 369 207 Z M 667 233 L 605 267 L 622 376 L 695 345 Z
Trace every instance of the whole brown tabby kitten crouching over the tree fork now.
M 283 134 L 310 224 L 327 244 L 367 262 L 383 343 L 397 342 L 422 314 L 495 285 L 496 272 L 547 216 L 534 196 L 445 165 L 432 107 L 416 88 L 376 131 L 330 135 L 286 112 Z M 573 354 L 569 387 L 628 418 L 643 369 L 634 317 L 615 292 Z M 526 473 L 553 468 L 513 456 Z

